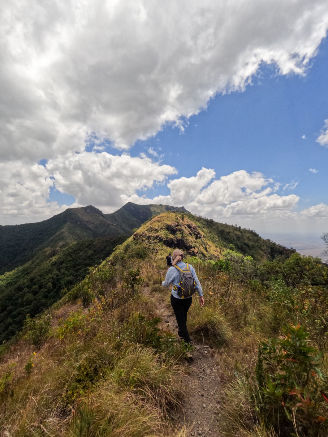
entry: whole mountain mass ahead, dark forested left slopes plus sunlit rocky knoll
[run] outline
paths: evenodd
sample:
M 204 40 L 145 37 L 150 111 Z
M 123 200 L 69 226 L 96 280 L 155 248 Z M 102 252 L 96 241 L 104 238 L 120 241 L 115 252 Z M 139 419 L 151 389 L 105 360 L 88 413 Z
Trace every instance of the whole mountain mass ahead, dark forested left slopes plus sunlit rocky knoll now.
M 229 248 L 257 261 L 294 252 L 255 231 L 168 205 L 128 203 L 112 214 L 93 206 L 70 208 L 44 222 L 2 226 L 1 232 L 2 268 L 18 267 L 0 276 L 0 343 L 21 329 L 27 314 L 49 308 L 123 242 L 124 254 L 115 254 L 119 259 L 140 258 L 149 250 L 164 257 L 174 247 L 213 260 Z

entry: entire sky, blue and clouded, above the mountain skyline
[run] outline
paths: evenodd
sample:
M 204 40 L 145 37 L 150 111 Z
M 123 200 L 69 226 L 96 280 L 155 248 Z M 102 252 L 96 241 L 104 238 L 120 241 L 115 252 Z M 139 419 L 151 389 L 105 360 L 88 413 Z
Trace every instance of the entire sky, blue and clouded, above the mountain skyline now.
M 132 201 L 319 250 L 327 29 L 326 0 L 3 2 L 0 225 Z

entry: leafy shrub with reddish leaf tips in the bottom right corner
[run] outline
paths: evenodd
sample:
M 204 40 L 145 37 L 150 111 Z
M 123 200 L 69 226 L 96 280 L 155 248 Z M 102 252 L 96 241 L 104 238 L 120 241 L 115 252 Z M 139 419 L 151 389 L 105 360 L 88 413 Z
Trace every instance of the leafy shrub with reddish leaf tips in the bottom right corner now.
M 308 343 L 300 324 L 284 327 L 277 339 L 262 342 L 256 366 L 259 410 L 283 435 L 324 436 L 328 431 L 320 392 L 327 381 L 320 369 L 322 354 Z

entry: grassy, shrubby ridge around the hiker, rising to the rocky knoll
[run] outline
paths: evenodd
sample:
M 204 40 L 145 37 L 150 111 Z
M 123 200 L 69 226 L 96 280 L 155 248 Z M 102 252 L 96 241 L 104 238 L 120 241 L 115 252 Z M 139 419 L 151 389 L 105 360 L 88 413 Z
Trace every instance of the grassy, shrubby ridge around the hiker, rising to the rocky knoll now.
M 241 247 L 254 250 L 259 237 L 232 228 L 158 215 L 49 313 L 28 319 L 17 342 L 2 346 L 1 435 L 191 435 L 176 420 L 189 405 L 186 347 L 143 293 L 168 303 L 165 255 L 180 247 L 206 301 L 193 303 L 188 329 L 218 369 L 213 435 L 327 436 L 327 268 L 268 240 L 252 257 Z M 240 249 L 221 239 L 229 230 L 240 233 Z

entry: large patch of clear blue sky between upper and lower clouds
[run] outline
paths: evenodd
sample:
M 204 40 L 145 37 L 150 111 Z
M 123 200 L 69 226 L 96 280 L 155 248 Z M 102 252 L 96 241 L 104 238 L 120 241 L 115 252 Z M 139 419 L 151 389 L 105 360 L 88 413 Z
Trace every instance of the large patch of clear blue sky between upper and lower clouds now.
M 315 141 L 327 111 L 325 38 L 305 76 L 278 76 L 275 66 L 263 65 L 244 91 L 216 95 L 206 110 L 188 119 L 184 132 L 166 126 L 154 138 L 137 142 L 131 156 L 151 147 L 185 177 L 204 166 L 220 176 L 244 169 L 264 173 L 283 186 L 295 181 L 300 211 L 309 202 L 328 202 L 328 151 Z M 169 190 L 161 186 L 147 191 L 151 196 L 159 193 Z

